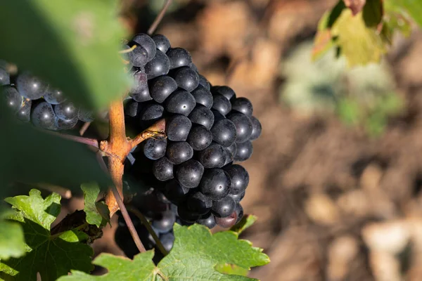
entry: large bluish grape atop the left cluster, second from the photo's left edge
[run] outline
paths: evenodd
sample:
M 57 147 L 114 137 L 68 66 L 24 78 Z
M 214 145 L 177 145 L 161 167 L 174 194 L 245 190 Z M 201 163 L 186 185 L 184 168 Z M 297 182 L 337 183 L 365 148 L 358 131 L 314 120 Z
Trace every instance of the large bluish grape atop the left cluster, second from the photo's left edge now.
M 16 79 L 16 88 L 21 96 L 30 100 L 37 100 L 44 96 L 47 85 L 29 72 L 23 72 Z

